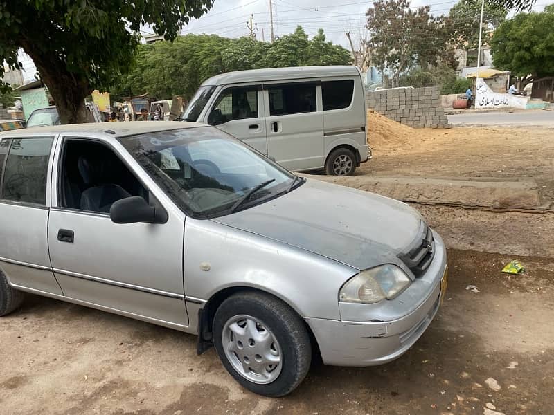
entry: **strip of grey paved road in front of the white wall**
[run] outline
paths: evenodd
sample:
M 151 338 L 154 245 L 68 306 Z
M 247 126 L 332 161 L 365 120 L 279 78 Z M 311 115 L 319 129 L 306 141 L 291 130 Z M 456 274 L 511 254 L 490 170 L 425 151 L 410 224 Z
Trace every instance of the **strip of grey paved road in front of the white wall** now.
M 467 113 L 448 116 L 448 121 L 455 125 L 537 125 L 554 127 L 554 111 L 514 111 Z

